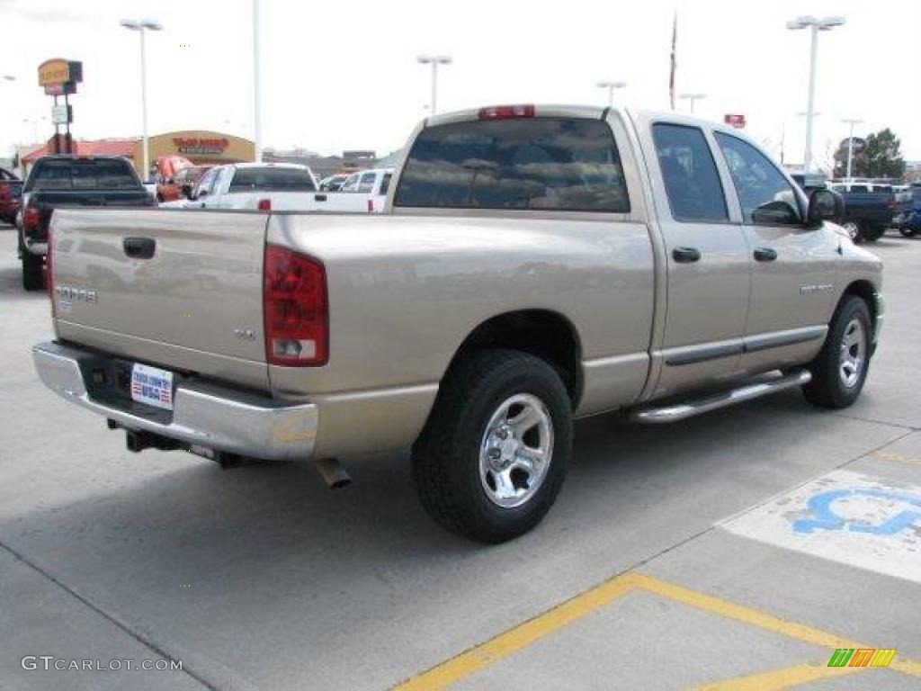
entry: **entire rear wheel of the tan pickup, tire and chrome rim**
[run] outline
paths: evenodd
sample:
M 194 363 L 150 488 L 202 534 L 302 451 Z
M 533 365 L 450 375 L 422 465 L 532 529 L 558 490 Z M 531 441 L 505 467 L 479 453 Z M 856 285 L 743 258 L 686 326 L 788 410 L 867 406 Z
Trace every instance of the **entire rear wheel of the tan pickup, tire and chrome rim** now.
M 519 351 L 475 351 L 442 382 L 413 474 L 440 525 L 502 543 L 550 510 L 571 452 L 571 405 L 554 368 Z

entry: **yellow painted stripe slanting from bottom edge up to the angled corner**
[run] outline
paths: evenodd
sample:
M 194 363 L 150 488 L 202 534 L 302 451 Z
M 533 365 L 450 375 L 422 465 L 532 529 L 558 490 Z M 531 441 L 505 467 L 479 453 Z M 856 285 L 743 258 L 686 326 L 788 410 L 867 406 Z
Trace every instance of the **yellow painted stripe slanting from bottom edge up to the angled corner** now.
M 408 679 L 395 688 L 399 691 L 410 689 L 415 691 L 416 689 L 444 688 L 454 684 L 488 664 L 502 660 L 522 648 L 527 648 L 534 641 L 572 624 L 577 619 L 624 596 L 634 588 L 635 574 L 633 573 L 606 580 L 591 590 L 547 610 L 542 615 L 537 615 L 517 627 L 509 628 L 505 633 L 490 638 L 485 643 L 461 652 L 460 655 L 447 662 L 442 662 L 427 672 Z

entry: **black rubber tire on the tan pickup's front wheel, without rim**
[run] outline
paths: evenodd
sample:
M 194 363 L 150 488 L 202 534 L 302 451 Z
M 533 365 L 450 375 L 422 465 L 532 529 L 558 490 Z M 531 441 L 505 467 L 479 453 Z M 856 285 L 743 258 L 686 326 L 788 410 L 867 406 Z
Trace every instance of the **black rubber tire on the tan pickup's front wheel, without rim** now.
M 859 322 L 862 330 L 862 360 L 854 381 L 845 381 L 845 352 L 850 357 L 854 355 L 852 346 L 845 350 L 845 336 L 854 334 L 854 322 Z M 857 396 L 867 381 L 872 334 L 867 303 L 854 295 L 845 296 L 834 312 L 822 350 L 807 366 L 812 374 L 812 381 L 803 386 L 803 395 L 810 404 L 838 409 L 846 408 L 857 401 Z

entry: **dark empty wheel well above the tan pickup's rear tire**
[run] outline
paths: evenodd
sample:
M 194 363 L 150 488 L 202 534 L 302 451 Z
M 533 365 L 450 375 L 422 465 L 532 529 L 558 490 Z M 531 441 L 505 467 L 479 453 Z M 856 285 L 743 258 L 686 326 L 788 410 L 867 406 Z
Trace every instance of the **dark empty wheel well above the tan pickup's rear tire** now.
M 573 410 L 582 394 L 582 349 L 576 327 L 552 310 L 518 310 L 499 314 L 477 326 L 451 359 L 455 368 L 468 353 L 507 348 L 550 363 L 566 387 Z M 446 374 L 447 376 L 447 374 Z

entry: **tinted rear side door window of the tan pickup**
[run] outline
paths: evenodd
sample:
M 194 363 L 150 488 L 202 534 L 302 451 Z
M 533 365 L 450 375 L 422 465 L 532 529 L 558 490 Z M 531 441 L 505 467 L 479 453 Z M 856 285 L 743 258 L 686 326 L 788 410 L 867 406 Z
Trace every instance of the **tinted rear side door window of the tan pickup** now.
M 659 170 L 677 221 L 728 221 L 726 195 L 717 163 L 699 127 L 656 123 L 652 126 Z

